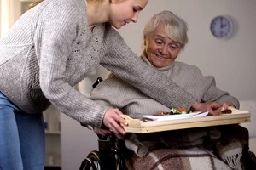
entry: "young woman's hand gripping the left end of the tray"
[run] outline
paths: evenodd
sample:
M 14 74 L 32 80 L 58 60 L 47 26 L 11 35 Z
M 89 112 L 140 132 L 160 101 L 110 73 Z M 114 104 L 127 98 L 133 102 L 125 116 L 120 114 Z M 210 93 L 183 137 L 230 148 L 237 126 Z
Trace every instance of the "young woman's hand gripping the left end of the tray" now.
M 103 118 L 103 123 L 108 127 L 109 131 L 125 135 L 125 129 L 120 124 L 127 126 L 128 122 L 120 115 L 123 115 L 123 113 L 119 109 L 108 109 Z

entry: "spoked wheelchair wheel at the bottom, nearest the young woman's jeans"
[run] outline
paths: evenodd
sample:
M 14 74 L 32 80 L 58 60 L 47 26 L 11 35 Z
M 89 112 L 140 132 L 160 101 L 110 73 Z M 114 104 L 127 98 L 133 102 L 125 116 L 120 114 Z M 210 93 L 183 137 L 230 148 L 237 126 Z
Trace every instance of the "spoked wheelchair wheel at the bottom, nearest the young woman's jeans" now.
M 84 161 L 82 161 L 79 170 L 100 170 L 101 165 L 98 151 L 91 151 Z

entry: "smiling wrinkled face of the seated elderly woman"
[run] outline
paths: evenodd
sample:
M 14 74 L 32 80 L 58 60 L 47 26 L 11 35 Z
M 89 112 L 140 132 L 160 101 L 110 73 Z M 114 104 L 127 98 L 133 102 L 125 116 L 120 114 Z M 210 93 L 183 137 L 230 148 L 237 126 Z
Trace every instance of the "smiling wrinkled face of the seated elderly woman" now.
M 144 37 L 144 45 L 148 61 L 157 68 L 171 65 L 182 49 L 182 45 L 166 35 L 165 26 L 161 23 Z

